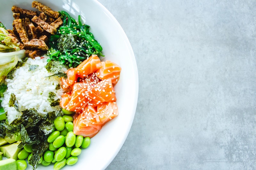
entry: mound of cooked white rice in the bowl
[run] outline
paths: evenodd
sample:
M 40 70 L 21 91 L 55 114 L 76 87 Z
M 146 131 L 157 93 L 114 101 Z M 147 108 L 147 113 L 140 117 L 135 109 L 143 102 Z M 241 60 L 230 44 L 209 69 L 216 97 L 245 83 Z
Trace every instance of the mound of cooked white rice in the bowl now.
M 7 90 L 2 98 L 2 107 L 7 112 L 7 119 L 12 122 L 19 118 L 22 111 L 35 108 L 40 115 L 45 115 L 48 112 L 60 110 L 60 106 L 51 107 L 51 102 L 48 101 L 49 92 L 56 94 L 54 100 L 60 99 L 63 90 L 56 90 L 56 86 L 60 83 L 60 78 L 52 75 L 45 69 L 47 59 L 36 57 L 36 59 L 28 58 L 27 62 L 13 74 L 13 79 L 5 79 Z M 29 65 L 39 65 L 36 70 L 28 71 Z M 11 94 L 14 93 L 18 101 L 19 111 L 14 107 L 9 107 Z M 57 112 L 56 112 L 57 113 Z

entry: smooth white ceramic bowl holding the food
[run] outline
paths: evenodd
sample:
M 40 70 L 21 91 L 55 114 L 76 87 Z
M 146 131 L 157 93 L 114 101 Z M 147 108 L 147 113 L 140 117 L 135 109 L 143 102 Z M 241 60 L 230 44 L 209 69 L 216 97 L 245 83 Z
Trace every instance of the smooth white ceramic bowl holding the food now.
M 91 145 L 79 155 L 74 166 L 64 169 L 105 169 L 121 149 L 132 126 L 138 99 L 138 71 L 130 42 L 113 15 L 96 0 L 38 0 L 52 8 L 65 10 L 75 19 L 81 15 L 84 23 L 91 26 L 90 31 L 100 42 L 105 55 L 103 60 L 110 60 L 122 67 L 120 80 L 115 86 L 119 115 L 108 122 L 91 139 Z M 0 5 L 0 21 L 7 29 L 12 29 L 13 5 L 24 9 L 31 7 L 32 0 L 8 0 Z M 37 169 L 52 169 L 53 166 L 38 166 Z M 29 168 L 31 169 L 31 166 Z

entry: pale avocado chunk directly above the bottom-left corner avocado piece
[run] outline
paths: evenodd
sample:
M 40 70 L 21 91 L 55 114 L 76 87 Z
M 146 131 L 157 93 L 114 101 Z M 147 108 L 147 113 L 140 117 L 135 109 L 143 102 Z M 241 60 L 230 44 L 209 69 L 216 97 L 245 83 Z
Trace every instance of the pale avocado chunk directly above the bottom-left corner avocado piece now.
M 6 158 L 12 158 L 12 159 L 17 160 L 18 153 L 21 151 L 21 149 L 18 148 L 19 144 L 20 144 L 19 142 L 16 142 L 13 144 L 6 144 L 4 146 L 0 146 L 0 151 L 4 153 L 4 156 Z

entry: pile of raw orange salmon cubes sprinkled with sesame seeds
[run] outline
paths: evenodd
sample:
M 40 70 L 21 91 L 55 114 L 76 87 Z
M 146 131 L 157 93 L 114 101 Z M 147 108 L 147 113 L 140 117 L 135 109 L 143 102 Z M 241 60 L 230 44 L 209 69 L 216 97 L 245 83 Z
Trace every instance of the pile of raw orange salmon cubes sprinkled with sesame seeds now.
M 74 134 L 94 137 L 102 126 L 118 115 L 114 85 L 121 67 L 92 55 L 76 68 L 66 71 L 61 86 L 66 89 L 60 106 L 74 115 Z

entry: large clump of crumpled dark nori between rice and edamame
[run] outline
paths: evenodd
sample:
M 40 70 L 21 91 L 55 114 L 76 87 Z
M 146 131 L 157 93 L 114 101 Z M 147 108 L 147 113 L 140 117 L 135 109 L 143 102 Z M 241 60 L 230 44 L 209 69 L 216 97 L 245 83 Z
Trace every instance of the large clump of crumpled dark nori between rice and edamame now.
M 55 112 L 41 116 L 36 109 L 27 109 L 22 112 L 20 118 L 15 119 L 11 124 L 6 121 L 0 122 L 0 137 L 12 137 L 13 134 L 20 133 L 22 142 L 18 147 L 22 148 L 25 144 L 32 145 L 33 150 L 29 164 L 36 169 L 40 157 L 48 149 L 47 137 L 53 130 L 55 118 Z

